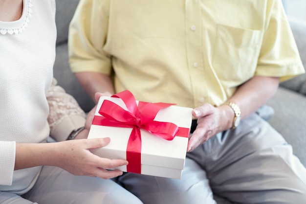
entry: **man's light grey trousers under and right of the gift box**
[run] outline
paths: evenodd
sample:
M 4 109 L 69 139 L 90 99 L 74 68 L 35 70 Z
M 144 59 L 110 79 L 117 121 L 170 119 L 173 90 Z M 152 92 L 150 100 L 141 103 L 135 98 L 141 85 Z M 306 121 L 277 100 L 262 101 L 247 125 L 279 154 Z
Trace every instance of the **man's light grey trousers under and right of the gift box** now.
M 306 169 L 258 114 L 187 154 L 182 179 L 125 174 L 118 182 L 144 204 L 306 204 Z

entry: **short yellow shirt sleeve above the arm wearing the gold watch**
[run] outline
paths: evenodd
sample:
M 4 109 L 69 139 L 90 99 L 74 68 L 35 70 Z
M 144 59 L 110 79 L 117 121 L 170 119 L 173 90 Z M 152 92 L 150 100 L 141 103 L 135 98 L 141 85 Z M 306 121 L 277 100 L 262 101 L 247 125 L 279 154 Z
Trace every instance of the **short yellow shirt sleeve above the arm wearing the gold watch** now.
M 305 72 L 282 1 L 268 1 L 265 32 L 256 75 L 288 80 Z

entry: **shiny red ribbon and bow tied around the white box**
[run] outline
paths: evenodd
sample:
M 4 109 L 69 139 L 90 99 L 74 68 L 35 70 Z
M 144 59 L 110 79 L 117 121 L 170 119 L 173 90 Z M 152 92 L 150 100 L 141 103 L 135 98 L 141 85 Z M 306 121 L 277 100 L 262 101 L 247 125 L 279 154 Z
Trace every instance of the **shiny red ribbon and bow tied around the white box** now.
M 122 91 L 111 97 L 121 98 L 128 111 L 119 105 L 104 100 L 99 113 L 95 115 L 93 125 L 132 128 L 127 146 L 127 171 L 141 173 L 141 134 L 140 129 L 147 130 L 155 136 L 166 140 L 173 140 L 175 136 L 188 137 L 189 128 L 180 128 L 171 122 L 154 121 L 156 114 L 163 108 L 174 104 L 138 102 L 130 91 Z

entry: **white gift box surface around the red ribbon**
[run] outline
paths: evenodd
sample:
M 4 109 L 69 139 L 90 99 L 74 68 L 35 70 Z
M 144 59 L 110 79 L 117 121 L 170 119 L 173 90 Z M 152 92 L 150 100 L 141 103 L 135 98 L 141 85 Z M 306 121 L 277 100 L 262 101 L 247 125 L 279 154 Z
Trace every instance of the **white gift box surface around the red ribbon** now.
M 121 98 L 101 96 L 95 115 L 102 116 L 99 110 L 104 100 L 114 102 L 127 110 Z M 136 103 L 138 104 L 138 101 Z M 173 140 L 166 140 L 154 136 L 147 130 L 140 129 L 141 174 L 180 179 L 185 164 L 192 109 L 172 105 L 161 109 L 156 114 L 154 121 L 171 122 L 188 132 L 187 136 L 175 136 Z M 92 124 L 88 138 L 110 137 L 110 143 L 105 147 L 91 150 L 91 152 L 103 158 L 127 159 L 127 145 L 131 130 L 132 128 Z M 117 169 L 127 172 L 127 166 L 121 166 Z

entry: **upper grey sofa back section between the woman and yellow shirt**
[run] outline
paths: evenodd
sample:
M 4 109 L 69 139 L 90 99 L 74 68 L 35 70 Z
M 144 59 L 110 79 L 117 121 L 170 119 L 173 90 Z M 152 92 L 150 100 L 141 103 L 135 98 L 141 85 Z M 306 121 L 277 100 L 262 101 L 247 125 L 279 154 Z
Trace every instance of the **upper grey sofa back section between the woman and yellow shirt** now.
M 69 23 L 73 17 L 74 11 L 79 0 L 57 0 L 56 1 L 56 44 L 62 44 L 67 41 Z

